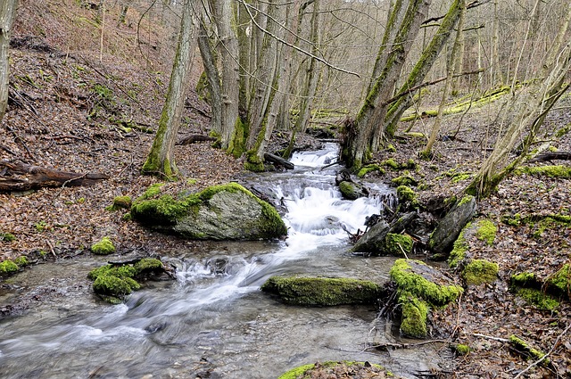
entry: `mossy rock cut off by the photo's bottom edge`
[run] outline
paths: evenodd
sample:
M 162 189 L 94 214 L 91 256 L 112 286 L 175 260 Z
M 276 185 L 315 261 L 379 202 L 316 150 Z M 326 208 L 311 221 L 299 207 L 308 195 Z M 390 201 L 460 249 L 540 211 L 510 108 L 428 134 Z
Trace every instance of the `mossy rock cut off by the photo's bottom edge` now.
M 371 375 L 374 375 L 366 377 L 392 377 L 395 379 L 400 378 L 400 376 L 395 376 L 391 371 L 388 371 L 385 367 L 377 364 L 356 361 L 327 361 L 323 363 L 318 362 L 315 364 L 295 367 L 287 371 L 285 374 L 279 375 L 277 379 L 309 379 L 313 377 L 325 378 L 329 377 L 327 375 L 335 375 L 335 377 L 337 377 L 335 373 L 339 372 L 343 372 L 345 375 L 347 375 L 347 377 L 357 377 L 358 373 L 362 371 L 366 371 L 371 373 Z

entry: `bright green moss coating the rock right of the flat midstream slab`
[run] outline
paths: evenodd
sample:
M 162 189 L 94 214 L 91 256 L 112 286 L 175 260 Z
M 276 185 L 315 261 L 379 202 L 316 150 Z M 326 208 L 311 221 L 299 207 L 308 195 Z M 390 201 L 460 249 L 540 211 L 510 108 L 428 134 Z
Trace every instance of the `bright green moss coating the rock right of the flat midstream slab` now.
M 411 264 L 420 267 L 426 266 L 419 260 L 396 260 L 391 268 L 391 279 L 397 284 L 401 292 L 410 293 L 426 301 L 432 307 L 443 307 L 455 301 L 463 292 L 459 285 L 440 285 L 427 280 L 411 269 Z

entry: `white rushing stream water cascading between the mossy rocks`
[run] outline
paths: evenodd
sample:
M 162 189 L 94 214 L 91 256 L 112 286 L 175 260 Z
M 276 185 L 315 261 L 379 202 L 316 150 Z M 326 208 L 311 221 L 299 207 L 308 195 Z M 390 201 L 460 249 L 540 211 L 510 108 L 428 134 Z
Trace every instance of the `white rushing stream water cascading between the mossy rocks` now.
M 407 377 L 434 367 L 433 350 L 365 350 L 379 332 L 396 338 L 372 306 L 285 306 L 260 291 L 275 275 L 386 281 L 393 259 L 352 256 L 343 227 L 363 230 L 389 189 L 371 185 L 377 196 L 342 200 L 339 167 L 319 169 L 335 157 L 328 144 L 296 153 L 294 171 L 246 179 L 285 205 L 284 242 L 212 243 L 202 256 L 165 256 L 178 268 L 177 281 L 148 283 L 124 304 L 97 300 L 86 278 L 108 257 L 61 260 L 13 276 L 0 307 L 24 294 L 33 302 L 49 293 L 52 301 L 0 320 L 0 377 L 265 379 L 340 359 L 380 363 Z

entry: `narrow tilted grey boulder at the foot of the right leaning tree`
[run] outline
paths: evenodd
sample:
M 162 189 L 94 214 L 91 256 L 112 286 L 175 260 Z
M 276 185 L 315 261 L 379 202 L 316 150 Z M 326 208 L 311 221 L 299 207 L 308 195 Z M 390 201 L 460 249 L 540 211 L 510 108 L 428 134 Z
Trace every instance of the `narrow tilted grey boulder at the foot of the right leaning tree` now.
M 466 195 L 456 202 L 430 235 L 428 240 L 430 249 L 438 253 L 451 251 L 452 244 L 458 238 L 462 228 L 475 214 L 476 198 L 474 196 Z

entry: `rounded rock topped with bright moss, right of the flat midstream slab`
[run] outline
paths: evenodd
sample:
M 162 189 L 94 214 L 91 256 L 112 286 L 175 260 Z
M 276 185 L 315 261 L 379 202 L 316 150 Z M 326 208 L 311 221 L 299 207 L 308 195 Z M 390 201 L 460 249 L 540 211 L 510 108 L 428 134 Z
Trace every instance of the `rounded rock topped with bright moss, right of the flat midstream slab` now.
M 434 308 L 456 301 L 463 292 L 461 286 L 453 284 L 437 268 L 420 260 L 396 260 L 390 276 L 400 292 L 416 296 Z

